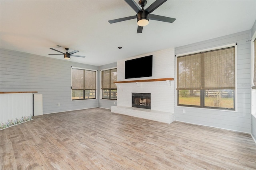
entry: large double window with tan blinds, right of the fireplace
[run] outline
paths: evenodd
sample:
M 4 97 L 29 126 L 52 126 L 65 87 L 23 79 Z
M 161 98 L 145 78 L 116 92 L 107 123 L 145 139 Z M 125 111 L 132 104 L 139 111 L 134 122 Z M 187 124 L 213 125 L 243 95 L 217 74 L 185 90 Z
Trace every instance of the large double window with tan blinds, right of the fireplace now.
M 235 47 L 177 58 L 178 106 L 235 109 Z

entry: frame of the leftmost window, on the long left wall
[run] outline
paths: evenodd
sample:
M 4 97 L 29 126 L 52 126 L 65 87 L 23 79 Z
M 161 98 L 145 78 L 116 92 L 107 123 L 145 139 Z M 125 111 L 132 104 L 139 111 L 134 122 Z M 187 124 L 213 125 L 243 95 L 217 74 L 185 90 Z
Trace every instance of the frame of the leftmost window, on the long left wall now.
M 72 88 L 72 69 L 77 69 L 77 70 L 84 70 L 84 71 L 93 71 L 95 72 L 95 88 L 94 89 L 76 89 L 76 90 L 83 90 L 83 98 L 81 99 L 72 99 L 72 91 L 74 90 Z M 72 67 L 71 66 L 71 101 L 78 101 L 78 100 L 95 100 L 97 99 L 97 72 L 98 70 L 92 70 L 92 69 L 87 69 L 87 68 L 78 68 L 78 67 Z M 84 80 L 83 80 L 84 81 Z M 85 98 L 86 90 L 95 90 L 95 97 L 94 98 Z

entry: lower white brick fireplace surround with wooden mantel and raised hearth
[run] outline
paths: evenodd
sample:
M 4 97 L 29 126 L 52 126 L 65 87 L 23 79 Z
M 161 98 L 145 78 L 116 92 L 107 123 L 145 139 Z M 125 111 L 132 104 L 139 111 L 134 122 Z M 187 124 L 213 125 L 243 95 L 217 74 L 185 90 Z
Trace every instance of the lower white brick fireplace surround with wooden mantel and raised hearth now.
M 168 94 L 171 92 L 171 80 L 173 78 L 115 82 L 118 87 L 118 106 L 112 106 L 111 112 L 170 124 L 174 121 L 174 113 L 168 112 L 168 96 L 172 96 Z M 132 93 L 150 93 L 151 109 L 132 107 Z M 120 102 L 123 102 L 122 106 Z

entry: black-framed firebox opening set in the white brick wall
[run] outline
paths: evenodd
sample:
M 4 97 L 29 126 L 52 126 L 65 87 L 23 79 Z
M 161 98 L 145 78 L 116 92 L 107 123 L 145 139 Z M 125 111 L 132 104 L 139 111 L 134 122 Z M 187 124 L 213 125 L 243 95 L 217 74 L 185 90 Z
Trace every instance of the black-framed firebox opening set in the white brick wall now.
M 150 93 L 132 93 L 132 107 L 151 108 Z

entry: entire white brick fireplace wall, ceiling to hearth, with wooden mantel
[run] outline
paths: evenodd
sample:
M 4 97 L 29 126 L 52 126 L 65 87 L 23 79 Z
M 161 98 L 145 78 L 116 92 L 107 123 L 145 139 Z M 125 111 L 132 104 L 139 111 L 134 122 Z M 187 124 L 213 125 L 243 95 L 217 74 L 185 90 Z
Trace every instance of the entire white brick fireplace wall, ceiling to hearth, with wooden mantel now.
M 152 77 L 124 78 L 126 60 L 149 55 L 153 55 Z M 169 124 L 175 120 L 174 48 L 119 60 L 117 70 L 117 106 L 111 112 Z M 150 109 L 133 108 L 132 93 L 150 93 Z

